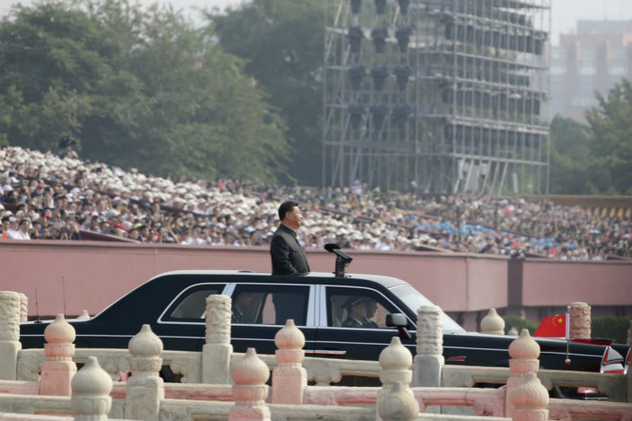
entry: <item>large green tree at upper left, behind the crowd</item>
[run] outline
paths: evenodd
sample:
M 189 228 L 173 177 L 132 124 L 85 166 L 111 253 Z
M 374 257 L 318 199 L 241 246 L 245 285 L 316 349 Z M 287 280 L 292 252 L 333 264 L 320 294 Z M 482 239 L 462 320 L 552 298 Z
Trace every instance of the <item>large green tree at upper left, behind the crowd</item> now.
M 0 23 L 0 138 L 199 178 L 276 180 L 285 124 L 226 53 L 180 13 L 127 0 L 17 6 Z

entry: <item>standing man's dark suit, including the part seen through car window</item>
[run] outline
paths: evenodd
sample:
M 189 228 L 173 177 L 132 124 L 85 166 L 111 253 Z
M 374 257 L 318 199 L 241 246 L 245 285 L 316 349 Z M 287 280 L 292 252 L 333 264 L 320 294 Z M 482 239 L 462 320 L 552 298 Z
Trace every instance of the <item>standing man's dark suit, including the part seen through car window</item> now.
M 270 242 L 272 275 L 300 275 L 310 271 L 305 250 L 296 238 L 296 232 L 280 224 Z M 303 324 L 305 317 L 302 294 L 276 293 L 272 296 L 275 303 L 276 324 L 284 325 L 292 319 L 297 325 Z

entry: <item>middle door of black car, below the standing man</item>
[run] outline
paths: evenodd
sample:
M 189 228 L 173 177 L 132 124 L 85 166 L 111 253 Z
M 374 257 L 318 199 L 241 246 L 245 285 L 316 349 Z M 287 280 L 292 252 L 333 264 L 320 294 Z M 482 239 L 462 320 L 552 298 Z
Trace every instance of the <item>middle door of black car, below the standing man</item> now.
M 231 343 L 235 352 L 254 347 L 258 354 L 275 354 L 275 335 L 293 319 L 305 336 L 304 349 L 313 349 L 313 285 L 233 284 L 233 322 Z

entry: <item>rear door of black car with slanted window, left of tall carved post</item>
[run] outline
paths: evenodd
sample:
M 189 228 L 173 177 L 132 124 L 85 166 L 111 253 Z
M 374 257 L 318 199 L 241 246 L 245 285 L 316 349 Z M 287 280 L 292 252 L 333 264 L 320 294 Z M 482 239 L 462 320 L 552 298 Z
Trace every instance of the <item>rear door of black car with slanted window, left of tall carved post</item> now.
M 152 326 L 164 349 L 201 351 L 206 341 L 206 297 L 224 294 L 226 284 L 189 285 L 162 312 Z

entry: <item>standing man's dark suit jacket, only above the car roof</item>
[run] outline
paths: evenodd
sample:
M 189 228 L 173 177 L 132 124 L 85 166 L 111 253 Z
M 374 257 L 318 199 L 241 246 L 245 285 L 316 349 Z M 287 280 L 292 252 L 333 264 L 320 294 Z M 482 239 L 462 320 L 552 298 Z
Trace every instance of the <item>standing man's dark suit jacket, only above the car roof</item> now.
M 296 232 L 280 224 L 270 243 L 272 275 L 298 275 L 310 271 L 305 251 L 296 238 Z

